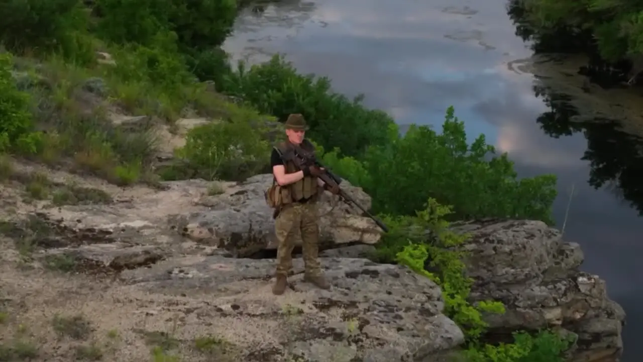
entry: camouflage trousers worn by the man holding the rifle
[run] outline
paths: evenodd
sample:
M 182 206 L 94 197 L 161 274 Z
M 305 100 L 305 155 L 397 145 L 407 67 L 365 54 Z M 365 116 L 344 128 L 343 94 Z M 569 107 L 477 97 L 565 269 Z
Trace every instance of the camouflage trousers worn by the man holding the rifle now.
M 301 240 L 305 272 L 310 276 L 321 274 L 319 251 L 318 210 L 314 202 L 286 205 L 275 220 L 277 246 L 276 274 L 287 275 L 293 269 L 294 245 Z

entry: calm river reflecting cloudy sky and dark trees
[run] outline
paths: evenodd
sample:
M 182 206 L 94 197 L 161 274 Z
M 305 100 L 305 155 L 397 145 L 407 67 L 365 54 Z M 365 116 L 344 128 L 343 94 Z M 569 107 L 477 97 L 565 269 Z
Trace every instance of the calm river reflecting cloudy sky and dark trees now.
M 328 76 L 346 95 L 365 93 L 367 106 L 401 125 L 439 128 L 453 105 L 468 136 L 484 133 L 509 152 L 520 176 L 556 174 L 557 227 L 566 219 L 583 269 L 604 278 L 628 314 L 622 361 L 643 355 L 635 337 L 643 332 L 640 95 L 595 84 L 583 91 L 583 59 L 532 57 L 505 0 L 282 0 L 246 9 L 224 48 L 251 63 L 285 53 L 300 72 Z

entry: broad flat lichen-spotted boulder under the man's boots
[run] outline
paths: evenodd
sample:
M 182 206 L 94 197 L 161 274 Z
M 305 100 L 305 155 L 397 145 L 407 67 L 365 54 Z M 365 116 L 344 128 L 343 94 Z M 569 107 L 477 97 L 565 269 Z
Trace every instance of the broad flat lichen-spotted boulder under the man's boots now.
M 215 326 L 219 338 L 235 346 L 235 361 L 433 361 L 464 341 L 441 314 L 440 289 L 428 278 L 358 258 L 321 263 L 331 290 L 305 283 L 296 259 L 282 296 L 270 292 L 271 260 L 172 258 L 121 278 L 156 300 L 181 298 L 172 310 L 183 314 L 189 332 Z

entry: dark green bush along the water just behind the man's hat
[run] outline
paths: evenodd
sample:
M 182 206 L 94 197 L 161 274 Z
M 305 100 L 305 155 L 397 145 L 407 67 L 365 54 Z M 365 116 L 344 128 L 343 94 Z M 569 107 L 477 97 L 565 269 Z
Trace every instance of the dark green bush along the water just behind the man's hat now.
M 397 128 L 385 112 L 364 108 L 362 96 L 349 100 L 334 93 L 327 77 L 299 75 L 279 55 L 249 70 L 240 62 L 221 90 L 282 121 L 302 113 L 311 126 L 309 137 L 324 148 L 339 148 L 342 155 L 358 156 L 370 145 L 388 144 L 390 129 Z

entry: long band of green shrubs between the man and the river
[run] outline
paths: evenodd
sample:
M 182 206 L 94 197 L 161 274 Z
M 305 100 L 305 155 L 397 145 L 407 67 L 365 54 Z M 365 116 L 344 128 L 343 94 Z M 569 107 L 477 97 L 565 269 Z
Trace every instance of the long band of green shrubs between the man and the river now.
M 222 88 L 280 120 L 302 113 L 311 126 L 307 136 L 332 150 L 322 156 L 326 166 L 363 187 L 377 213 L 413 215 L 432 197 L 453 205 L 452 218 L 553 222 L 556 176 L 518 179 L 507 154 L 497 155 L 484 135 L 467 144 L 453 107 L 441 134 L 412 126 L 400 137 L 388 115 L 332 93 L 327 78 L 299 75 L 279 56 L 249 70 L 240 62 Z

